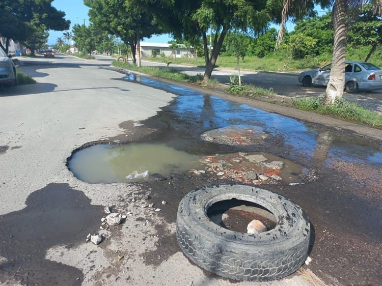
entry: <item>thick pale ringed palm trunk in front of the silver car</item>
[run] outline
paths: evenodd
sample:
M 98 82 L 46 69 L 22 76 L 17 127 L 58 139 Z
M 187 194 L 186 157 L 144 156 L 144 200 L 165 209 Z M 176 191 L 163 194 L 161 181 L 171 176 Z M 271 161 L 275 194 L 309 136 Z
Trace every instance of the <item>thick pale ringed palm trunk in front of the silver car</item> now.
M 345 10 L 345 0 L 336 0 L 333 6 L 334 44 L 332 69 L 328 87 L 326 87 L 324 104 L 334 103 L 336 98 L 342 98 L 343 95 L 346 60 Z

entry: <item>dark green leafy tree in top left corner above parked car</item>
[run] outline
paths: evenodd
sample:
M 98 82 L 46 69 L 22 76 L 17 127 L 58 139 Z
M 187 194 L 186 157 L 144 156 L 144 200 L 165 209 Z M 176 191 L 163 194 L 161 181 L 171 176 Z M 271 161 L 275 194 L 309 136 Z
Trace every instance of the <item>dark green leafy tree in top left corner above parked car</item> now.
M 0 43 L 0 46 L 8 52 L 10 39 L 25 46 L 37 46 L 48 30 L 63 31 L 69 28 L 70 21 L 65 20 L 65 13 L 52 7 L 52 2 L 53 0 L 2 0 L 0 36 L 5 38 L 6 44 L 3 46 Z

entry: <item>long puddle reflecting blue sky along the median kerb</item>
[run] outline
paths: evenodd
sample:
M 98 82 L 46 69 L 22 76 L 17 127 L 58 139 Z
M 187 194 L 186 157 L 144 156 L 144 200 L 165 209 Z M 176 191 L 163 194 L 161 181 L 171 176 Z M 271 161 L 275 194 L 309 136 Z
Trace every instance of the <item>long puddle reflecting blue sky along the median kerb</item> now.
M 273 149 L 280 147 L 278 154 L 283 156 L 288 154 L 291 160 L 303 158 L 306 161 L 316 160 L 324 165 L 342 160 L 382 166 L 381 148 L 369 140 L 363 138 L 349 140 L 346 135 L 334 137 L 332 132 L 323 131 L 292 118 L 144 76 L 130 74 L 124 79 L 179 95 L 173 104 L 163 108 L 161 112 L 161 119 L 166 120 L 173 132 L 186 131 L 188 136 L 199 138 L 203 132 L 213 129 L 232 125 L 253 125 L 262 128 L 268 135 L 264 140 L 262 152 L 275 153 L 276 150 Z M 324 137 L 329 139 L 322 140 Z M 267 141 L 271 143 L 266 145 Z

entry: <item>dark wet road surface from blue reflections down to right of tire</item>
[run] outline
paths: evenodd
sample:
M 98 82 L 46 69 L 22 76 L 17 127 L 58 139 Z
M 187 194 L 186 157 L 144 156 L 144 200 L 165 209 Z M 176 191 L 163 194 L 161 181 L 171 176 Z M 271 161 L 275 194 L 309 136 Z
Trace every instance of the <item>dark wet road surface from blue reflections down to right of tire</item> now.
M 329 284 L 377 285 L 381 281 L 380 141 L 145 77 L 130 75 L 125 79 L 179 95 L 156 117 L 143 122 L 146 126 L 165 123 L 150 140 L 191 154 L 265 152 L 308 169 L 308 174 L 300 176 L 301 184 L 260 186 L 290 198 L 307 212 L 315 231 L 309 267 Z M 249 123 L 261 127 L 267 137 L 245 146 L 201 140 L 206 131 Z M 162 189 L 157 183 L 155 189 L 171 193 L 165 184 Z

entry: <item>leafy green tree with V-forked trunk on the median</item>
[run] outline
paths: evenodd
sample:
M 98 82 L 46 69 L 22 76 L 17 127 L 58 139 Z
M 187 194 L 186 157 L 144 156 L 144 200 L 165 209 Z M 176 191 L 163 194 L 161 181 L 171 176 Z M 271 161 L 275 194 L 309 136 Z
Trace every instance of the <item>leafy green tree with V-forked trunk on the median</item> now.
M 167 8 L 172 11 L 167 17 L 168 26 L 177 38 L 202 39 L 206 63 L 204 79 L 208 80 L 227 33 L 233 29 L 252 30 L 255 34 L 263 31 L 272 20 L 271 11 L 267 10 L 272 4 L 274 1 L 266 0 L 175 1 Z M 209 38 L 211 52 L 208 50 Z

